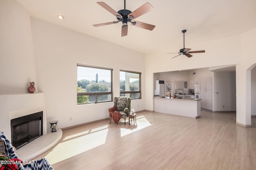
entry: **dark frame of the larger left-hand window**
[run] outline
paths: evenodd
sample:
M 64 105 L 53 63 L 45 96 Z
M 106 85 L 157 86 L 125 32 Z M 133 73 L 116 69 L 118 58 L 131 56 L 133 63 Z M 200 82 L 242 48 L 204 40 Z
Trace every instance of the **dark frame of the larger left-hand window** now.
M 92 65 L 87 65 L 87 64 L 78 64 L 76 65 L 76 69 L 78 66 L 83 66 L 83 67 L 89 67 L 89 68 L 97 68 L 97 69 L 103 69 L 103 70 L 110 70 L 110 92 L 76 92 L 77 96 L 95 96 L 95 102 L 89 102 L 89 103 L 81 103 L 78 104 L 76 102 L 76 105 L 84 105 L 84 104 L 97 104 L 97 103 L 106 103 L 106 102 L 113 102 L 113 68 L 107 68 L 107 67 L 101 67 L 101 66 L 92 66 Z M 76 72 L 77 76 L 77 72 Z M 77 80 L 76 80 L 77 81 Z M 77 83 L 76 83 L 77 84 Z M 104 101 L 104 102 L 98 102 L 97 96 L 98 95 L 104 95 L 104 94 L 111 94 L 111 101 Z

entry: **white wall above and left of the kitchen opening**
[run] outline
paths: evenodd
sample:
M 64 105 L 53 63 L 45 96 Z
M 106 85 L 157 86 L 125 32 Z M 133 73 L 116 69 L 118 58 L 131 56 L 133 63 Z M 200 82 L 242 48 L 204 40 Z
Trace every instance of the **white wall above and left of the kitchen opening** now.
M 145 107 L 147 110 L 153 110 L 152 89 L 154 87 L 154 72 L 206 68 L 241 62 L 241 35 L 190 44 L 187 47 L 193 50 L 205 49 L 206 53 L 194 54 L 191 58 L 181 55 L 174 59 L 170 59 L 170 54 L 166 54 L 167 50 L 162 53 L 146 54 L 145 72 L 146 84 L 148 86 L 146 87 Z

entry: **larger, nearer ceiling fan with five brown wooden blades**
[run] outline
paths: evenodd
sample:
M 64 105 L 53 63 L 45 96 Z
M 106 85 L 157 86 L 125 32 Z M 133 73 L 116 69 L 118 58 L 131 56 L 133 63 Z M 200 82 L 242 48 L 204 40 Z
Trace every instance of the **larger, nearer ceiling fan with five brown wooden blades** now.
M 150 10 L 153 9 L 153 7 L 148 2 L 144 5 L 142 5 L 140 8 L 136 9 L 133 12 L 131 12 L 130 10 L 125 9 L 126 8 L 125 0 L 124 0 L 124 9 L 119 10 L 118 12 L 113 10 L 110 6 L 108 6 L 104 2 L 97 2 L 97 4 L 99 4 L 100 6 L 102 6 L 106 10 L 108 10 L 108 12 L 110 12 L 111 14 L 116 16 L 118 21 L 112 21 L 112 22 L 107 22 L 107 23 L 99 23 L 99 24 L 93 25 L 94 27 L 99 27 L 99 26 L 103 26 L 103 25 L 110 25 L 110 24 L 118 23 L 118 22 L 121 21 L 122 22 L 122 33 L 121 33 L 122 37 L 126 36 L 127 33 L 128 33 L 128 25 L 127 25 L 128 22 L 130 22 L 131 25 L 134 25 L 134 26 L 140 27 L 140 28 L 144 28 L 144 29 L 148 29 L 150 31 L 152 31 L 155 27 L 155 25 L 151 25 L 151 24 L 148 24 L 148 23 L 133 21 L 135 18 L 138 18 L 139 16 L 142 16 L 143 14 L 146 14 L 147 12 L 149 12 Z

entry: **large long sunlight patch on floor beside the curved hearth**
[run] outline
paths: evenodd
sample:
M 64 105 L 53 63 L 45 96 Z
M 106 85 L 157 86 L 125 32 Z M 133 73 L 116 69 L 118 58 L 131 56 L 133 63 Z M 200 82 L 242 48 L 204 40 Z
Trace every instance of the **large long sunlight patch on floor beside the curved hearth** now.
M 56 164 L 62 160 L 66 160 L 72 156 L 76 156 L 82 152 L 103 145 L 106 142 L 106 137 L 108 134 L 108 129 L 106 128 L 107 127 L 94 133 L 88 133 L 87 135 L 63 141 L 56 145 L 56 147 L 49 152 L 45 158 L 50 164 Z M 78 134 L 81 135 L 81 133 Z

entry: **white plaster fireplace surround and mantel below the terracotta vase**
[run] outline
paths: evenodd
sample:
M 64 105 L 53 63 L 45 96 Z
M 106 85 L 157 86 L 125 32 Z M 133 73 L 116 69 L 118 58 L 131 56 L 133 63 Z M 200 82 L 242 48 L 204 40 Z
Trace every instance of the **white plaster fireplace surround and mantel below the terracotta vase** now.
M 43 111 L 43 135 L 46 135 L 44 93 L 0 94 L 0 131 L 11 141 L 11 119 L 39 111 Z

